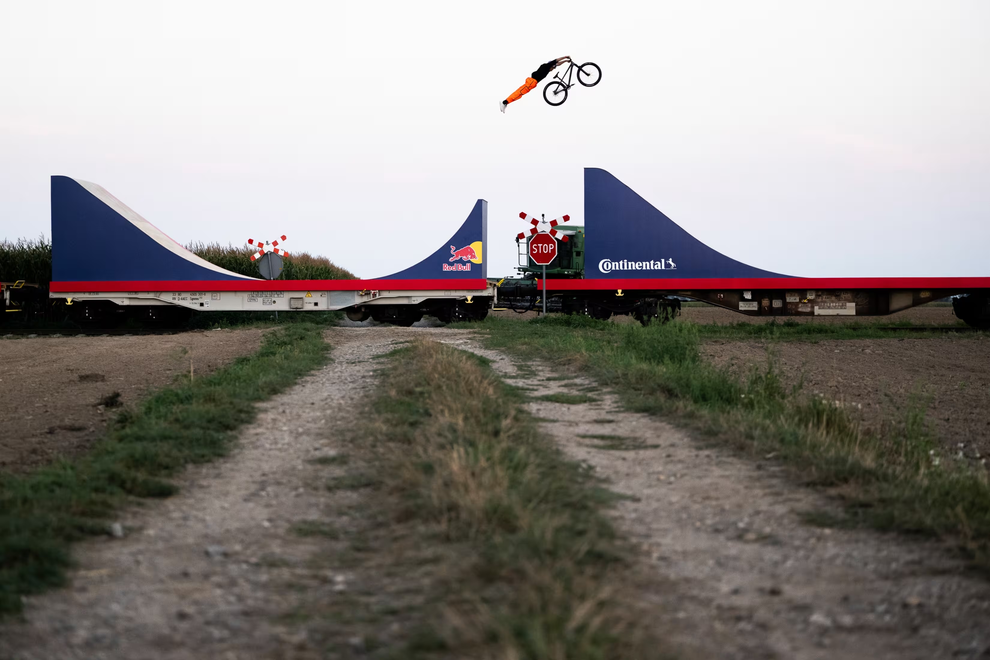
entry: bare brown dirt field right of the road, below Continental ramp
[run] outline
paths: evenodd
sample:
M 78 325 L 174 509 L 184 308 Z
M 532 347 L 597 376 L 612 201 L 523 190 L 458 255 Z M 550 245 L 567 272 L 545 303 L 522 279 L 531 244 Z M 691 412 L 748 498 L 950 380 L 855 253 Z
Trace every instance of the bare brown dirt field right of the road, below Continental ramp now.
M 718 365 L 764 367 L 767 349 L 793 384 L 840 401 L 874 429 L 903 422 L 912 395 L 930 400 L 928 418 L 946 451 L 990 456 L 990 340 L 982 336 L 826 340 L 817 343 L 710 341 Z

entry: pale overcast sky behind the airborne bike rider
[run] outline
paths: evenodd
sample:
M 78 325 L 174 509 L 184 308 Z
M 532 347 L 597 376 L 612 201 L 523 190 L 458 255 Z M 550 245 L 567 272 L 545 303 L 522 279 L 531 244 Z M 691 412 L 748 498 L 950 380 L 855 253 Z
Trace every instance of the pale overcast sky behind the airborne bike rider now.
M 565 54 L 601 84 L 498 112 Z M 64 174 L 180 242 L 373 277 L 484 198 L 501 276 L 592 166 L 761 268 L 990 275 L 988 65 L 984 0 L 0 0 L 0 238 L 49 235 Z

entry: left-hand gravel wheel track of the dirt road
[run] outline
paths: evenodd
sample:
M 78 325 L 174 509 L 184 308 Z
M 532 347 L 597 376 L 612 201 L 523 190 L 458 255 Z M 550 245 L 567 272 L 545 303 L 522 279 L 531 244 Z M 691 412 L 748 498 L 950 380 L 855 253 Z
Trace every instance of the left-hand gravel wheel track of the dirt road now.
M 339 451 L 337 431 L 374 382 L 369 359 L 400 339 L 332 330 L 334 361 L 261 404 L 230 457 L 185 471 L 175 497 L 125 512 L 124 538 L 79 543 L 71 585 L 0 627 L 0 658 L 322 657 L 287 614 L 345 597 L 349 576 L 313 563 L 322 539 L 290 528 L 337 519 L 360 497 L 329 493 L 311 461 Z

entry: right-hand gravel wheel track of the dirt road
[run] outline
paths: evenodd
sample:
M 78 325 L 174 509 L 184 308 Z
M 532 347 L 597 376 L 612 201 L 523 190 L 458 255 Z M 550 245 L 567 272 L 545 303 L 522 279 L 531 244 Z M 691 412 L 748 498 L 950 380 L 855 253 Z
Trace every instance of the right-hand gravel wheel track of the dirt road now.
M 643 598 L 688 656 L 990 658 L 990 584 L 939 544 L 808 526 L 799 512 L 834 503 L 772 460 L 754 464 L 625 412 L 587 379 L 545 380 L 469 336 L 447 341 L 495 358 L 503 377 L 534 395 L 587 390 L 598 399 L 528 406 L 571 457 L 632 496 L 615 518 L 644 550 Z

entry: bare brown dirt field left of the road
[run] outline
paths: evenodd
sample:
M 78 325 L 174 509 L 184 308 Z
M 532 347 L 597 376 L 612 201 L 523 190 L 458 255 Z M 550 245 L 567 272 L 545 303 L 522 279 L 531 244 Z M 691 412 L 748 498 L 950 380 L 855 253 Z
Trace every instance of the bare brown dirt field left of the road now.
M 0 470 L 71 456 L 103 436 L 120 393 L 132 404 L 177 374 L 205 375 L 257 350 L 263 330 L 0 340 Z M 109 402 L 112 403 L 112 402 Z

